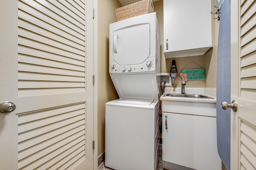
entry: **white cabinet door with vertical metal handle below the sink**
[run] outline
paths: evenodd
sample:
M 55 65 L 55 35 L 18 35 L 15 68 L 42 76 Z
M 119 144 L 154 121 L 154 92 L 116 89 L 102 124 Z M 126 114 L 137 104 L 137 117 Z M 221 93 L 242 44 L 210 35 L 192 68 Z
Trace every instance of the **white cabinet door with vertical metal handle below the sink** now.
M 221 170 L 216 117 L 163 112 L 162 122 L 164 161 L 196 170 Z

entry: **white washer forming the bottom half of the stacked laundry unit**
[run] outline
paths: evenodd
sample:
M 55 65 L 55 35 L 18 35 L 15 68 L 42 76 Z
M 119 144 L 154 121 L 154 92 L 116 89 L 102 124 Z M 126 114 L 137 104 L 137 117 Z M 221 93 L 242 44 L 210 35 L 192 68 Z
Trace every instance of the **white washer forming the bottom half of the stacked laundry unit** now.
M 158 101 L 106 103 L 105 166 L 115 170 L 156 169 Z

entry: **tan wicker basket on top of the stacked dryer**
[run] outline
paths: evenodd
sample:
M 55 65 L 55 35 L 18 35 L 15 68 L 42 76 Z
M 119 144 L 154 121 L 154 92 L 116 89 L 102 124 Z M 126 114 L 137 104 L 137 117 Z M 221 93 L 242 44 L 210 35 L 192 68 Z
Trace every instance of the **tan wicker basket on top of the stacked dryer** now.
M 154 6 L 152 0 L 142 0 L 130 5 L 116 9 L 117 21 L 125 20 L 135 16 L 149 14 L 153 12 Z

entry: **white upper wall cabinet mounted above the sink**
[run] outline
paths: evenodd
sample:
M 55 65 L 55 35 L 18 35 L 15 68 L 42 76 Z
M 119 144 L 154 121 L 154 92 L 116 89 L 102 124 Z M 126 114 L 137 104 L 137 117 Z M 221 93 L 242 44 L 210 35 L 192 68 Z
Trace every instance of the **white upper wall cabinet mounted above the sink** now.
M 166 58 L 204 55 L 212 47 L 212 0 L 164 0 Z

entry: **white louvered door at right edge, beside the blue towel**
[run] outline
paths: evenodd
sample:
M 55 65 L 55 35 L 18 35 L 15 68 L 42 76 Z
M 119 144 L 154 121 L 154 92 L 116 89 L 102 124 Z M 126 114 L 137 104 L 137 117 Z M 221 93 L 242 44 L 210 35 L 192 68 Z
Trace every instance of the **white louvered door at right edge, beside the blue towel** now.
M 256 170 L 255 12 L 256 0 L 231 0 L 231 170 Z

